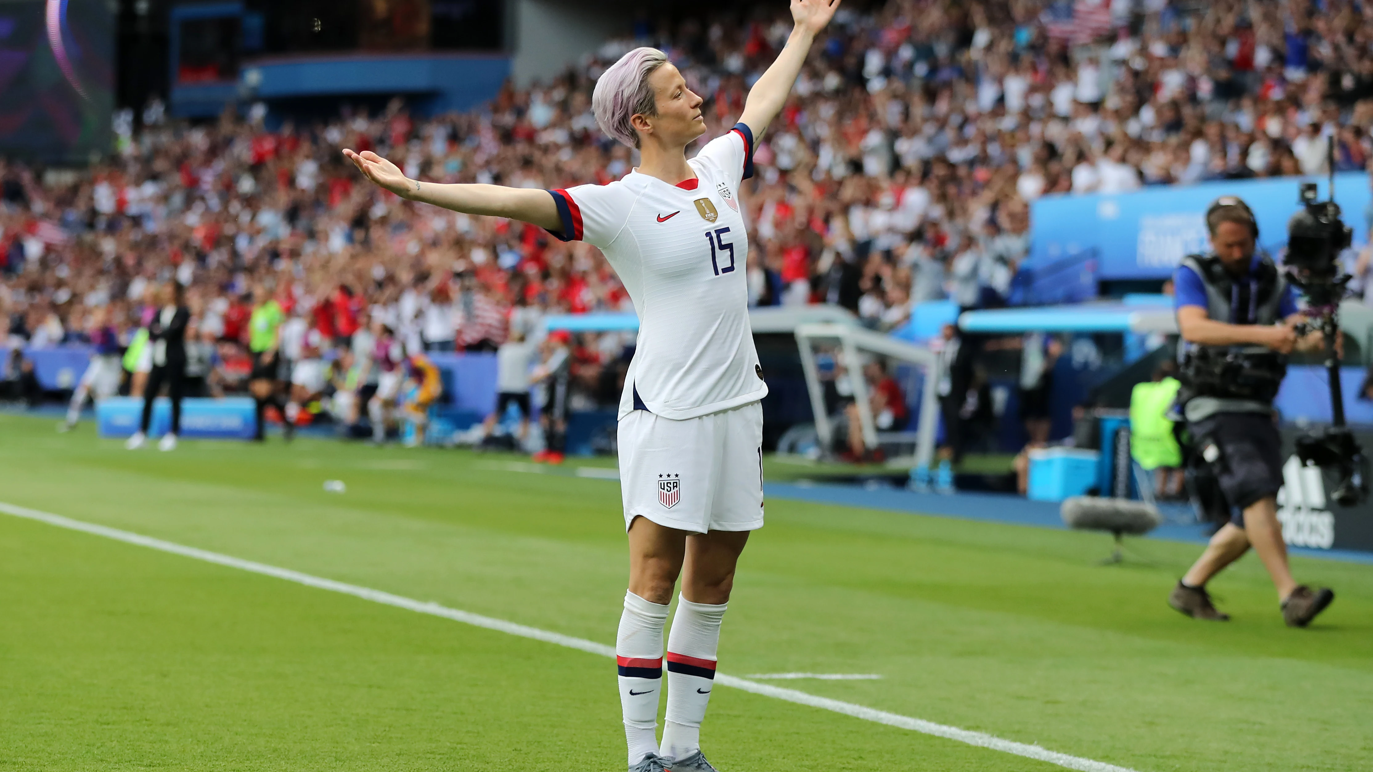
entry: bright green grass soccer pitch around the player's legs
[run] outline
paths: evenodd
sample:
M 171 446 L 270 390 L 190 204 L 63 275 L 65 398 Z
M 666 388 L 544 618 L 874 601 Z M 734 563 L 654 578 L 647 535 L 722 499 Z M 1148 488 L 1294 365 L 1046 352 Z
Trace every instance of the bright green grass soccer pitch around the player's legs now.
M 614 643 L 612 481 L 314 440 L 128 453 L 54 424 L 0 415 L 0 502 Z M 1212 587 L 1234 620 L 1205 624 L 1164 605 L 1199 548 L 1100 566 L 1100 535 L 770 500 L 721 672 L 880 673 L 769 683 L 1140 772 L 1373 768 L 1373 566 L 1296 558 L 1337 599 L 1293 631 L 1251 555 Z M 0 514 L 0 771 L 618 771 L 614 673 Z M 702 736 L 726 772 L 1056 769 L 730 688 Z

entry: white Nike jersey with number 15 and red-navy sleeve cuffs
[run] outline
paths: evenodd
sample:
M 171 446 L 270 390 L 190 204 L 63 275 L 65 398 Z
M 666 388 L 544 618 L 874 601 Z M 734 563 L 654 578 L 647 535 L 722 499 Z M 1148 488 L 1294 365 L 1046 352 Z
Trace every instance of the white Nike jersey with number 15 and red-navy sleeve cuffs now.
M 718 413 L 768 395 L 748 325 L 748 236 L 739 184 L 752 177 L 752 132 L 739 123 L 669 185 L 632 171 L 608 185 L 549 191 L 553 236 L 605 254 L 638 311 L 638 343 L 619 403 L 665 418 Z

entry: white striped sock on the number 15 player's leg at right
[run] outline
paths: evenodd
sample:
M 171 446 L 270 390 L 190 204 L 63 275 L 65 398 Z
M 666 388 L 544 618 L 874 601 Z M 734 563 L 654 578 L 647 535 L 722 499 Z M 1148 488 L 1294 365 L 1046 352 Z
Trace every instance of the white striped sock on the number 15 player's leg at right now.
M 678 596 L 667 635 L 667 721 L 662 756 L 686 758 L 700 747 L 700 723 L 715 684 L 719 623 L 729 603 L 708 606 Z

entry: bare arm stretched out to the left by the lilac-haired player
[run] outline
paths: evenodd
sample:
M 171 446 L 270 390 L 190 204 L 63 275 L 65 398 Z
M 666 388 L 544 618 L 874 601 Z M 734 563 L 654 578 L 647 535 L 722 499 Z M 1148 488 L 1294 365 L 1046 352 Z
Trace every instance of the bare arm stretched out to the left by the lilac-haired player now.
M 439 185 L 437 182 L 420 182 L 419 180 L 405 177 L 394 163 L 369 149 L 360 154 L 345 149 L 343 155 L 368 180 L 402 199 L 441 206 L 464 214 L 508 217 L 549 230 L 557 230 L 563 226 L 562 219 L 557 217 L 557 204 L 553 203 L 553 196 L 548 195 L 548 191 L 540 191 L 538 188 L 507 188 L 504 185 Z

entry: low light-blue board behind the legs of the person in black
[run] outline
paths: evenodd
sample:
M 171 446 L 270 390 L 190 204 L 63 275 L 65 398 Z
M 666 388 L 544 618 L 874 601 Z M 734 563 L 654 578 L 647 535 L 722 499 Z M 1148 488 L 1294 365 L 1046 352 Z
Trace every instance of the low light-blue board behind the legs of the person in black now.
M 126 437 L 139 428 L 139 421 L 143 418 L 143 399 L 132 396 L 102 399 L 95 407 L 95 417 L 102 437 Z M 172 403 L 166 398 L 159 398 L 152 403 L 148 436 L 162 436 L 170 428 Z M 254 429 L 251 398 L 181 400 L 181 437 L 251 440 Z

